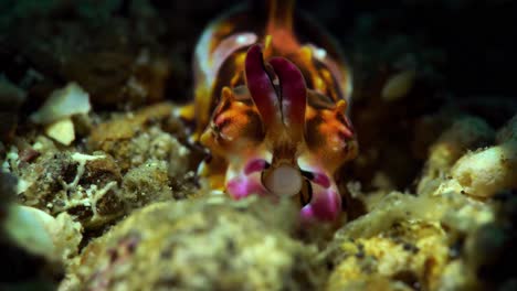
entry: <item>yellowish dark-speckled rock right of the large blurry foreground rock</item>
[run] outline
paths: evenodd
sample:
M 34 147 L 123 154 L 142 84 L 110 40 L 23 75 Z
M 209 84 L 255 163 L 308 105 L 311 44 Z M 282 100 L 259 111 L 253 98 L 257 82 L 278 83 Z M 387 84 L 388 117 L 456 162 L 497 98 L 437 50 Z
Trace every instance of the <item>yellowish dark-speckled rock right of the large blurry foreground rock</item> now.
M 425 222 L 400 222 L 372 237 L 345 241 L 341 250 L 327 290 L 369 290 L 379 280 L 382 290 L 436 290 L 449 257 L 446 234 Z

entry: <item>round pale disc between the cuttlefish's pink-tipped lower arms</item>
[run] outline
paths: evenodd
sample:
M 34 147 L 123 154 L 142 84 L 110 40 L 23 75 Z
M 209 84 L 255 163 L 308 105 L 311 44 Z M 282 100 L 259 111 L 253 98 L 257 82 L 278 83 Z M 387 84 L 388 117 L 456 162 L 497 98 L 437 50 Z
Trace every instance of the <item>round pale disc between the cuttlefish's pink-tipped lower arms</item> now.
M 298 169 L 279 165 L 263 173 L 262 183 L 273 194 L 293 196 L 299 193 L 304 179 Z

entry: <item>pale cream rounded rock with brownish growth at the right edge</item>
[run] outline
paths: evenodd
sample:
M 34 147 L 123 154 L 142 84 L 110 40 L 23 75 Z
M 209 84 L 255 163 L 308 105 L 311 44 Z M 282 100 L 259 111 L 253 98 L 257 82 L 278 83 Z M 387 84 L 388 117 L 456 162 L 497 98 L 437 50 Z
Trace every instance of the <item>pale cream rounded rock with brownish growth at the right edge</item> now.
M 516 123 L 515 118 L 509 120 L 495 134 L 481 119 L 457 120 L 431 147 L 418 193 L 455 192 L 489 198 L 497 192 L 517 187 Z M 482 148 L 493 143 L 494 138 L 499 144 Z

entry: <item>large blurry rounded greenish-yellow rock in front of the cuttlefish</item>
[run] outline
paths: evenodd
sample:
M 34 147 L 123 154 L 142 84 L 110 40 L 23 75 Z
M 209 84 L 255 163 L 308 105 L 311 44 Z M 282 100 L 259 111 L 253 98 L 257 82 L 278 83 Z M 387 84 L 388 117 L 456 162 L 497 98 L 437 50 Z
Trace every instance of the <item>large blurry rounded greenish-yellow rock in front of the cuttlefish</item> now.
M 284 202 L 157 203 L 92 241 L 61 290 L 314 290 L 324 268 L 286 233 L 294 214 Z

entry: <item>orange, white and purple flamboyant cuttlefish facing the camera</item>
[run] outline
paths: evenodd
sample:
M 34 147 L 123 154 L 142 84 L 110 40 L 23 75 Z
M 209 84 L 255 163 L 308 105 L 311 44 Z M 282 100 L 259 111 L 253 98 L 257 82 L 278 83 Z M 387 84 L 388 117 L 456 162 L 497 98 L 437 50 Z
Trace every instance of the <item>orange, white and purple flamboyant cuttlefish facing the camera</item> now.
M 211 153 L 199 175 L 234 198 L 294 196 L 304 219 L 336 219 L 333 175 L 358 149 L 349 69 L 325 31 L 295 17 L 294 0 L 256 2 L 212 22 L 196 48 L 183 116 Z

